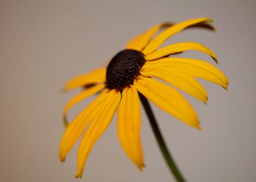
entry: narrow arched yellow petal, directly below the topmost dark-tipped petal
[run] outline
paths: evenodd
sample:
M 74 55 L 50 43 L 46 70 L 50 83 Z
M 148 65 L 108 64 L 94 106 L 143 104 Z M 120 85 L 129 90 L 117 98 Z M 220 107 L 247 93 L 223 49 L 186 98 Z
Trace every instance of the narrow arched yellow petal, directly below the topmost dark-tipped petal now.
M 150 53 L 149 55 L 146 55 L 145 59 L 146 60 L 158 59 L 161 57 L 165 57 L 167 55 L 172 55 L 174 53 L 181 53 L 189 50 L 195 50 L 195 51 L 200 51 L 202 53 L 206 53 L 207 55 L 210 55 L 210 57 L 212 57 L 212 59 L 214 59 L 214 61 L 217 63 L 216 55 L 210 49 L 208 49 L 204 45 L 199 44 L 197 42 L 182 42 L 182 43 L 167 45 L 161 49 L 153 51 L 153 53 Z

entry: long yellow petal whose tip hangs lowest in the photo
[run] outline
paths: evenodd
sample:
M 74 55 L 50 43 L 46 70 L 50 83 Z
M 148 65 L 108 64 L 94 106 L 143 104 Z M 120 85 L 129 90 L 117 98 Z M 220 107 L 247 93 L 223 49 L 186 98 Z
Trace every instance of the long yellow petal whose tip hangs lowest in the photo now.
M 84 164 L 88 158 L 89 151 L 97 142 L 99 136 L 101 136 L 108 125 L 110 124 L 116 108 L 120 103 L 121 94 L 116 90 L 109 90 L 107 93 L 107 98 L 101 105 L 101 109 L 97 113 L 97 116 L 93 118 L 93 121 L 89 125 L 88 129 L 84 133 L 80 145 L 78 147 L 77 161 L 78 170 L 76 172 L 76 177 L 82 177 L 84 171 Z

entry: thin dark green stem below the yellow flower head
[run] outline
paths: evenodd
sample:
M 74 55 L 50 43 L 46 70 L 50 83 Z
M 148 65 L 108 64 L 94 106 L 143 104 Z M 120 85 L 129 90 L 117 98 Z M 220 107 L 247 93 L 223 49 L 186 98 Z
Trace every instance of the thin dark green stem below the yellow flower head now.
M 161 135 L 161 131 L 157 125 L 155 116 L 153 115 L 153 112 L 150 107 L 150 103 L 148 102 L 148 99 L 146 99 L 140 93 L 139 93 L 139 96 L 140 96 L 140 101 L 142 102 L 142 105 L 143 105 L 143 107 L 146 111 L 146 114 L 148 116 L 148 119 L 150 120 L 150 125 L 152 127 L 155 138 L 157 139 L 158 146 L 161 149 L 161 152 L 163 154 L 163 157 L 165 158 L 165 161 L 167 162 L 170 172 L 172 172 L 176 181 L 184 182 L 185 179 L 182 176 L 181 172 L 178 170 L 178 166 L 175 164 L 174 159 L 172 159 L 172 155 L 168 151 L 167 145 L 165 144 L 165 140 L 163 139 L 163 136 Z

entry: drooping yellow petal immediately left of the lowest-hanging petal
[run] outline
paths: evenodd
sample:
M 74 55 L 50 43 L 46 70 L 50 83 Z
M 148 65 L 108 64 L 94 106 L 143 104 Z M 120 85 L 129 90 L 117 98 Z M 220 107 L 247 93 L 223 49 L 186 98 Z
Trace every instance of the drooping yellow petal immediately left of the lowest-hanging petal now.
M 59 158 L 61 161 L 65 161 L 67 153 L 69 153 L 80 135 L 82 135 L 91 118 L 99 112 L 99 105 L 101 105 L 104 99 L 106 99 L 105 92 L 101 93 L 68 125 L 61 138 L 61 145 L 59 147 Z

